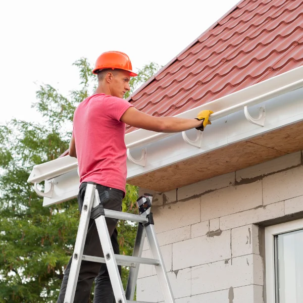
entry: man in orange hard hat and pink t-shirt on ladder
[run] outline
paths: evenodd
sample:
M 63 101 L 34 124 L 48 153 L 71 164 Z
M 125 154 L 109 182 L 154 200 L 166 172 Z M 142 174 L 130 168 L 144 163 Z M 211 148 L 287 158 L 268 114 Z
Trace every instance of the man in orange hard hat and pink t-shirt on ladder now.
M 121 211 L 126 185 L 125 124 L 157 132 L 181 132 L 191 128 L 203 131 L 212 111 L 202 111 L 195 119 L 153 117 L 136 110 L 123 99 L 130 90 L 132 71 L 128 56 L 120 52 L 107 52 L 96 61 L 93 73 L 98 77 L 95 92 L 83 100 L 74 113 L 74 129 L 69 155 L 78 159 L 80 189 L 78 205 L 81 212 L 86 184 L 95 182 L 99 194 L 107 190 L 110 200 L 106 209 Z M 119 254 L 117 220 L 106 218 L 115 254 Z M 104 257 L 94 220 L 90 220 L 84 245 L 84 255 Z M 71 259 L 72 260 L 72 259 Z M 64 296 L 71 266 L 65 270 L 57 303 Z M 121 274 L 121 268 L 120 268 Z M 95 280 L 94 303 L 115 301 L 109 273 L 105 264 L 82 261 L 74 302 L 86 303 Z

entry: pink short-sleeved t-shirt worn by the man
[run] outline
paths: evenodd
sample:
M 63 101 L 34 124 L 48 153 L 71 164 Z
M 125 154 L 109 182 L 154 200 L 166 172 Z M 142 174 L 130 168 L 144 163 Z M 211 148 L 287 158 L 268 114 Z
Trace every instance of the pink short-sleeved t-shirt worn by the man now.
M 104 93 L 89 96 L 78 105 L 73 136 L 80 183 L 91 181 L 125 192 L 125 123 L 120 118 L 130 107 L 126 100 Z

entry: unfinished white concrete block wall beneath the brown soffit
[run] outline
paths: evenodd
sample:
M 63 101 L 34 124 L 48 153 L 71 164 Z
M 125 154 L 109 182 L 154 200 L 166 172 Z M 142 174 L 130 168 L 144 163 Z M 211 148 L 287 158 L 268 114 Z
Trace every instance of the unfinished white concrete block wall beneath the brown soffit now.
M 176 303 L 266 302 L 264 226 L 303 217 L 302 159 L 299 151 L 154 192 L 155 229 Z M 147 243 L 143 257 L 151 258 Z M 164 300 L 153 267 L 140 267 L 137 300 Z

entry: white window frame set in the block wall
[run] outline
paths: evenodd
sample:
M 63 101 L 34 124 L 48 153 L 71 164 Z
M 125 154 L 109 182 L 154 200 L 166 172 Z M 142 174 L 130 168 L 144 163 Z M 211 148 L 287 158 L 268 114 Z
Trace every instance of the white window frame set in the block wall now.
M 274 236 L 303 229 L 303 219 L 265 227 L 266 301 L 276 303 Z

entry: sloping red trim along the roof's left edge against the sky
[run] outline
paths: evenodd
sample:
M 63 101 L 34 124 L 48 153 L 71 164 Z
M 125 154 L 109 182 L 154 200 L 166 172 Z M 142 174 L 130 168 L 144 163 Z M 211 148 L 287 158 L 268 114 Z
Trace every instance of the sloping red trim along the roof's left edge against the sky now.
M 227 17 L 230 13 L 232 13 L 235 9 L 238 8 L 238 6 L 246 0 L 240 0 L 236 5 L 234 5 L 226 14 L 224 14 L 221 18 L 219 18 L 214 24 L 212 24 L 208 29 L 206 29 L 200 36 L 198 36 L 195 40 L 193 40 L 188 46 L 186 46 L 183 51 L 181 51 L 176 57 L 174 57 L 171 61 L 169 61 L 168 64 L 166 64 L 163 68 L 161 68 L 154 76 L 151 76 L 145 83 L 143 83 L 139 88 L 137 88 L 126 100 L 128 102 L 131 101 L 132 97 L 137 94 L 139 91 L 141 91 L 144 87 L 146 87 L 151 81 L 153 81 L 160 73 L 162 73 L 165 69 L 167 69 L 170 65 L 172 65 L 179 56 L 184 54 L 187 49 L 189 49 L 194 43 L 198 41 L 203 35 L 205 35 L 207 32 L 211 31 L 213 28 L 215 28 L 219 22 Z

